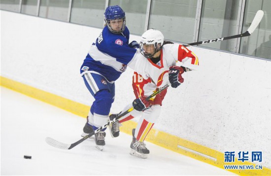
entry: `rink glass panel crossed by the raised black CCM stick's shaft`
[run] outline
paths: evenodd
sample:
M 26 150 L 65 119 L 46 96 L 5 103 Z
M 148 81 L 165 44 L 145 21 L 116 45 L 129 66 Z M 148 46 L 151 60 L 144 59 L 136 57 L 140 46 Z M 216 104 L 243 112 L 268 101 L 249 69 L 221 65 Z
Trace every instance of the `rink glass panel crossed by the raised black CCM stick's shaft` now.
M 237 34 L 237 0 L 203 0 L 198 41 Z M 236 51 L 237 38 L 205 44 L 203 47 Z

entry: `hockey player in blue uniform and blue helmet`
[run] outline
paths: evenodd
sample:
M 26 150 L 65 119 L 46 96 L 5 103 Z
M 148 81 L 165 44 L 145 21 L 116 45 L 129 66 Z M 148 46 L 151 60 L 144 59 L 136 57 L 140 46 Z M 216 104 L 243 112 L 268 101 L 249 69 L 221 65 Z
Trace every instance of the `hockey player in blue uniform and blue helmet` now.
M 118 5 L 108 6 L 104 12 L 106 26 L 92 44 L 80 72 L 85 85 L 95 98 L 83 128 L 82 136 L 90 134 L 108 122 L 115 96 L 115 83 L 139 48 L 136 41 L 129 44 L 125 12 Z M 105 145 L 105 129 L 95 134 L 98 149 Z

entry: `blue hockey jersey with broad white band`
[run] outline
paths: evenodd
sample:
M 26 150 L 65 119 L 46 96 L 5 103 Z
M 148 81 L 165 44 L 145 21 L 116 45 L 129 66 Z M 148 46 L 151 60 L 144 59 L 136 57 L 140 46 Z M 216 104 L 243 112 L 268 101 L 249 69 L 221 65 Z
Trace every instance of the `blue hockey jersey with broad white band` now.
M 129 47 L 129 30 L 112 34 L 108 27 L 93 43 L 81 67 L 81 75 L 87 72 L 102 74 L 108 81 L 117 80 L 134 58 L 136 49 Z

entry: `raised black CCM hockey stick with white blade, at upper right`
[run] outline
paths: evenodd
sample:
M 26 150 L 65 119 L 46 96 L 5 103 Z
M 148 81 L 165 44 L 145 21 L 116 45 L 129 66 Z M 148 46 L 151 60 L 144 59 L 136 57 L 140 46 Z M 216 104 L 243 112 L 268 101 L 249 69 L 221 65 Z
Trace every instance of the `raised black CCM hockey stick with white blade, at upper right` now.
M 255 17 L 254 17 L 254 19 L 253 19 L 253 21 L 252 21 L 252 23 L 251 23 L 251 25 L 250 25 L 250 27 L 248 28 L 248 30 L 246 32 L 244 32 L 242 34 L 226 36 L 226 37 L 222 37 L 222 38 L 215 38 L 215 39 L 210 39 L 210 40 L 205 40 L 205 41 L 198 41 L 198 42 L 195 42 L 195 43 L 188 43 L 187 45 L 184 45 L 184 46 L 193 46 L 193 45 L 212 43 L 212 42 L 217 42 L 217 41 L 223 41 L 223 40 L 228 40 L 228 39 L 233 39 L 233 38 L 249 36 L 257 28 L 257 26 L 261 22 L 263 16 L 264 16 L 264 11 L 263 10 L 258 10 Z

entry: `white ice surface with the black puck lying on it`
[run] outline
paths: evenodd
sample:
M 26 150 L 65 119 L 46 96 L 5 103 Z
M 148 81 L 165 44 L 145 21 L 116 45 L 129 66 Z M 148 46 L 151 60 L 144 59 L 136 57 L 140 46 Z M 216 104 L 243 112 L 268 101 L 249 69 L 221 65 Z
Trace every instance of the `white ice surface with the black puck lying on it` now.
M 1 175 L 234 175 L 149 142 L 148 158 L 137 158 L 129 154 L 132 136 L 124 133 L 107 134 L 103 151 L 94 140 L 54 148 L 46 137 L 78 141 L 86 119 L 4 87 L 0 97 Z

